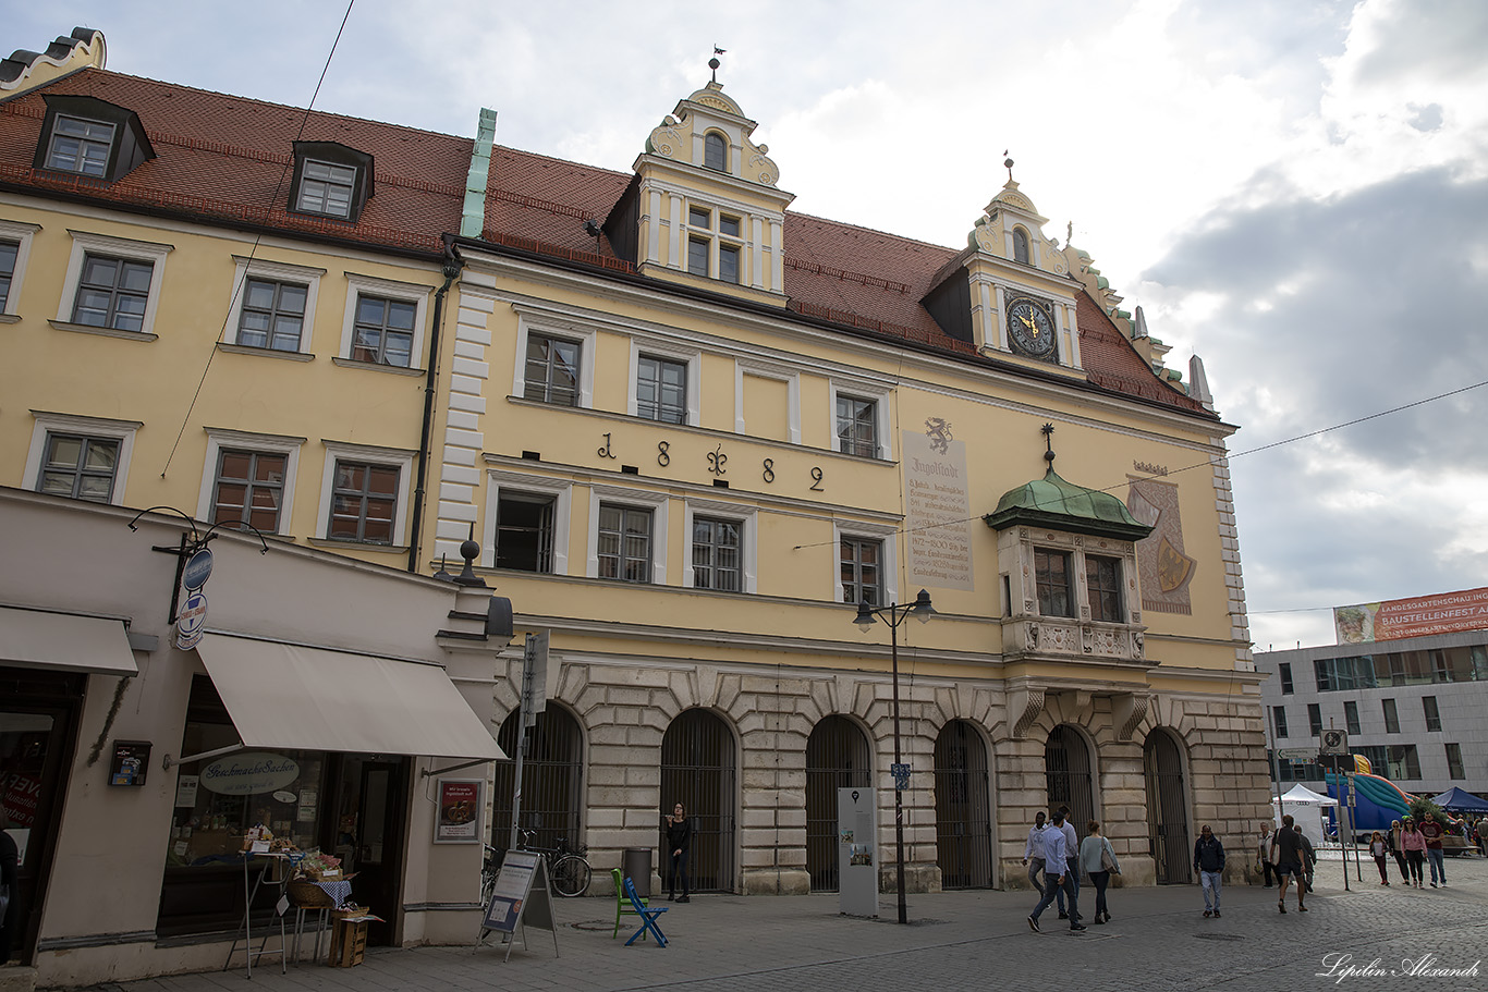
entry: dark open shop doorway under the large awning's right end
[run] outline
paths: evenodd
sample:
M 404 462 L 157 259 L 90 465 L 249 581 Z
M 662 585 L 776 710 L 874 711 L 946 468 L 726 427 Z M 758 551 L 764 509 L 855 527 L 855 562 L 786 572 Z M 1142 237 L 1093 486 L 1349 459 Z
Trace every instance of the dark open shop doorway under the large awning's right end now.
M 339 754 L 332 761 L 335 843 L 323 845 L 356 872 L 351 895 L 385 922 L 369 924 L 368 941 L 391 944 L 403 882 L 403 821 L 408 818 L 406 757 Z

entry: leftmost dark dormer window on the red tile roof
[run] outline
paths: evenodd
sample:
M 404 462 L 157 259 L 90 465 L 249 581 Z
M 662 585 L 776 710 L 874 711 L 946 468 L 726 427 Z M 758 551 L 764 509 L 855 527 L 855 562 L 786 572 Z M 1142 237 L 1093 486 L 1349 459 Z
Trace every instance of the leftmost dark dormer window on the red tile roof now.
M 112 181 L 155 158 L 132 110 L 95 97 L 43 100 L 46 117 L 31 161 L 36 168 Z

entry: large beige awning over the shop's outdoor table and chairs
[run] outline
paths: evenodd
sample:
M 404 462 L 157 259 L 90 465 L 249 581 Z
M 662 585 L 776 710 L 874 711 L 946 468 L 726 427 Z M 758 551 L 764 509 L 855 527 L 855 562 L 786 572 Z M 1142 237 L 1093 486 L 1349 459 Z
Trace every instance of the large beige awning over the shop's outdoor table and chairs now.
M 506 757 L 439 665 L 223 634 L 196 654 L 250 748 Z

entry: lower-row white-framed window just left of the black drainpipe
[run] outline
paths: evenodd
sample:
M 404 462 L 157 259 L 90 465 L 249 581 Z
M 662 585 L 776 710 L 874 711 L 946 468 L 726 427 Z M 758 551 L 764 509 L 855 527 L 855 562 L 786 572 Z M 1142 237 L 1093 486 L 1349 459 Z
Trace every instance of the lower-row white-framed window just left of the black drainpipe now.
M 408 492 L 414 452 L 371 445 L 321 442 L 320 528 L 332 541 L 387 544 L 408 540 Z

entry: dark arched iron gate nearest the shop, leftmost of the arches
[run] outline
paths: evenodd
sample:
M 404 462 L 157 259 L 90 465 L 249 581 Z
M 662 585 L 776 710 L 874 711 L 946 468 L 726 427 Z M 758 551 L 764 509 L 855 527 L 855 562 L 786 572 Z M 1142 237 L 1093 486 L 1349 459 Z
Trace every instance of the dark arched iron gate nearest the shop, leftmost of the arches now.
M 496 794 L 491 814 L 491 846 L 504 851 L 512 837 L 512 788 L 516 784 L 516 727 L 521 712 L 501 724 L 496 742 L 512 760 L 496 763 Z M 579 812 L 583 809 L 583 742 L 579 721 L 567 709 L 548 703 L 527 733 L 522 759 L 522 827 L 536 831 L 533 845 L 557 848 L 559 837 L 577 845 Z

